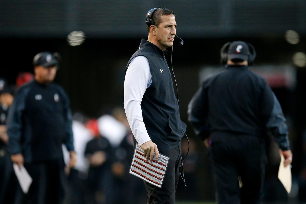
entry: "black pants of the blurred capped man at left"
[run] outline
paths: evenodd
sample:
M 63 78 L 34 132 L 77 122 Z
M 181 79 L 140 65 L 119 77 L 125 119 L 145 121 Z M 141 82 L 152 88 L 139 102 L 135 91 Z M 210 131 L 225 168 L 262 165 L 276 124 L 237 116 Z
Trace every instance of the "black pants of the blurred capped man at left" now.
M 32 177 L 27 194 L 23 194 L 23 204 L 60 204 L 64 200 L 67 177 L 62 160 L 32 162 L 24 164 Z

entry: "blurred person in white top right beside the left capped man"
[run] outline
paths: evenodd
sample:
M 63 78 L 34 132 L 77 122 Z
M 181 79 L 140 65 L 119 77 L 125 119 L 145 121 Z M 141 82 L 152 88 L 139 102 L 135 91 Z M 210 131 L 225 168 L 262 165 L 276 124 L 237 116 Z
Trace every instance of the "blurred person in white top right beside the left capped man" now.
M 85 148 L 95 132 L 91 128 L 86 128 L 87 117 L 82 113 L 77 112 L 73 114 L 72 131 L 73 131 L 73 144 L 76 152 L 76 165 L 69 168 L 69 151 L 62 145 L 65 172 L 68 175 L 69 192 L 65 203 L 69 204 L 85 204 L 86 181 L 88 176 L 88 161 L 85 157 Z

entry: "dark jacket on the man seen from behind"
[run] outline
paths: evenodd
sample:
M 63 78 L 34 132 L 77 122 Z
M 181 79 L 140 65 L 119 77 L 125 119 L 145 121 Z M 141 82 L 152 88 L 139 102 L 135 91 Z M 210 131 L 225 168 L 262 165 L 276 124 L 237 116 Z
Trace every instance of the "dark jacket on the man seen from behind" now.
M 282 150 L 290 149 L 282 108 L 265 80 L 247 66 L 228 65 L 205 80 L 188 105 L 196 135 L 212 132 L 263 137 L 271 129 Z

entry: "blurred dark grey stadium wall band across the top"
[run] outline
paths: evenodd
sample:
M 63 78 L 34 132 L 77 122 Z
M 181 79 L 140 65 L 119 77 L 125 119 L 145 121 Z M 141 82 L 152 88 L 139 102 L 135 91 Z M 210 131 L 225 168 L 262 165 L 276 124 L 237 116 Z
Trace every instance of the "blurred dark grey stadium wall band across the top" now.
M 303 0 L 2 0 L 0 5 L 2 36 L 58 38 L 78 30 L 88 37 L 134 38 L 146 34 L 143 13 L 156 6 L 175 11 L 180 35 L 188 38 L 306 32 Z

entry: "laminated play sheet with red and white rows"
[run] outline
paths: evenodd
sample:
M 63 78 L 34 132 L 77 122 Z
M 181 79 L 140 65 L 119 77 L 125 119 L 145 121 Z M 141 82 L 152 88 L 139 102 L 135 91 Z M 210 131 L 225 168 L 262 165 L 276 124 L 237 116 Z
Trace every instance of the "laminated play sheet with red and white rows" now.
M 159 158 L 156 161 L 155 153 L 152 162 L 146 161 L 144 150 L 139 144 L 136 144 L 129 173 L 161 188 L 168 161 L 169 157 L 162 154 L 159 154 Z

